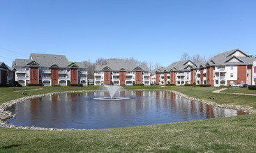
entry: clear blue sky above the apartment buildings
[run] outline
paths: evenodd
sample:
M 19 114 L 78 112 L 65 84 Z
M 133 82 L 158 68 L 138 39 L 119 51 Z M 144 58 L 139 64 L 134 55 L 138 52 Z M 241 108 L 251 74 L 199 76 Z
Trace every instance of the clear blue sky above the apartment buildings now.
M 256 54 L 256 1 L 0 1 L 0 61 L 62 54 L 163 66 L 239 48 Z

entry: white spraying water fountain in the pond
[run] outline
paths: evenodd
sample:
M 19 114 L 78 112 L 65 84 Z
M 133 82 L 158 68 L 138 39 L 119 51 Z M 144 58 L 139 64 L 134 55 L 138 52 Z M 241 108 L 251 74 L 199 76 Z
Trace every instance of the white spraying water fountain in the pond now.
M 123 100 L 123 99 L 130 99 L 128 97 L 114 97 L 116 91 L 121 90 L 121 86 L 113 86 L 113 85 L 103 85 L 103 90 L 107 90 L 110 94 L 110 97 L 98 97 L 93 98 L 96 100 Z

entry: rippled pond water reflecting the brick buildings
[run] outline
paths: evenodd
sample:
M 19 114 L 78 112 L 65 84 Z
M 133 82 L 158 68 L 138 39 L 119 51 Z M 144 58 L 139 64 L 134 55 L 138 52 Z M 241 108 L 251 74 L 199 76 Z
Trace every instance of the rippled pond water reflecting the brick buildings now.
M 17 114 L 10 124 L 24 127 L 105 129 L 220 118 L 238 115 L 232 109 L 184 99 L 168 91 L 121 90 L 121 101 L 100 101 L 103 91 L 66 93 L 29 99 L 10 109 Z

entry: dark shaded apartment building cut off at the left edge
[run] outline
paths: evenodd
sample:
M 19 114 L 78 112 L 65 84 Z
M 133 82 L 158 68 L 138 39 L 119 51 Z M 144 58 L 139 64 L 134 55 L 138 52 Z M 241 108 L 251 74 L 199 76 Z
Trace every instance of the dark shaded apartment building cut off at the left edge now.
M 13 84 L 13 74 L 14 69 L 11 67 L 8 67 L 3 62 L 0 62 L 0 84 L 10 83 Z

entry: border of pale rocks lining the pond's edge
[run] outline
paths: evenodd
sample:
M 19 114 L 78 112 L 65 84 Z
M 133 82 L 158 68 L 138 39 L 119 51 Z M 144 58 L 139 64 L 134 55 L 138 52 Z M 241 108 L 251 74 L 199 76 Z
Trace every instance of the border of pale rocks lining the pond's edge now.
M 140 90 L 142 90 L 142 89 L 140 89 Z M 48 95 L 61 94 L 61 93 L 76 93 L 76 92 L 82 93 L 82 92 L 96 92 L 96 91 L 100 91 L 100 90 L 77 90 L 77 91 L 52 92 L 52 93 L 47 93 L 47 94 L 33 95 L 33 96 L 29 96 L 29 97 L 22 97 L 22 98 L 19 98 L 19 99 L 11 100 L 10 102 L 6 102 L 6 103 L 3 103 L 3 104 L 0 105 L 0 127 L 15 128 L 15 129 L 47 130 L 47 131 L 88 130 L 88 129 L 57 129 L 57 128 L 46 128 L 46 127 L 23 127 L 23 126 L 18 127 L 18 126 L 15 126 L 13 124 L 9 124 L 8 121 L 6 121 L 6 120 L 15 117 L 15 114 L 12 114 L 9 111 L 10 107 L 12 107 L 13 105 L 15 105 L 19 102 L 24 102 L 28 99 L 33 99 L 33 98 L 37 98 L 37 97 L 44 97 L 44 96 L 48 96 Z M 174 90 L 162 90 L 162 91 L 174 92 L 176 95 L 179 95 L 183 98 L 190 99 L 190 100 L 195 100 L 197 102 L 202 102 L 203 104 L 208 104 L 210 106 L 216 106 L 216 107 L 220 107 L 220 108 L 230 108 L 230 109 L 234 109 L 236 111 L 243 111 L 247 114 L 255 114 L 256 113 L 256 111 L 254 111 L 253 109 L 243 107 L 243 106 L 235 106 L 235 105 L 228 105 L 228 104 L 216 104 L 215 102 L 209 102 L 209 101 L 204 100 L 204 99 L 197 99 L 197 98 L 189 97 L 187 95 L 184 95 L 181 92 L 177 92 L 177 91 L 174 91 Z

